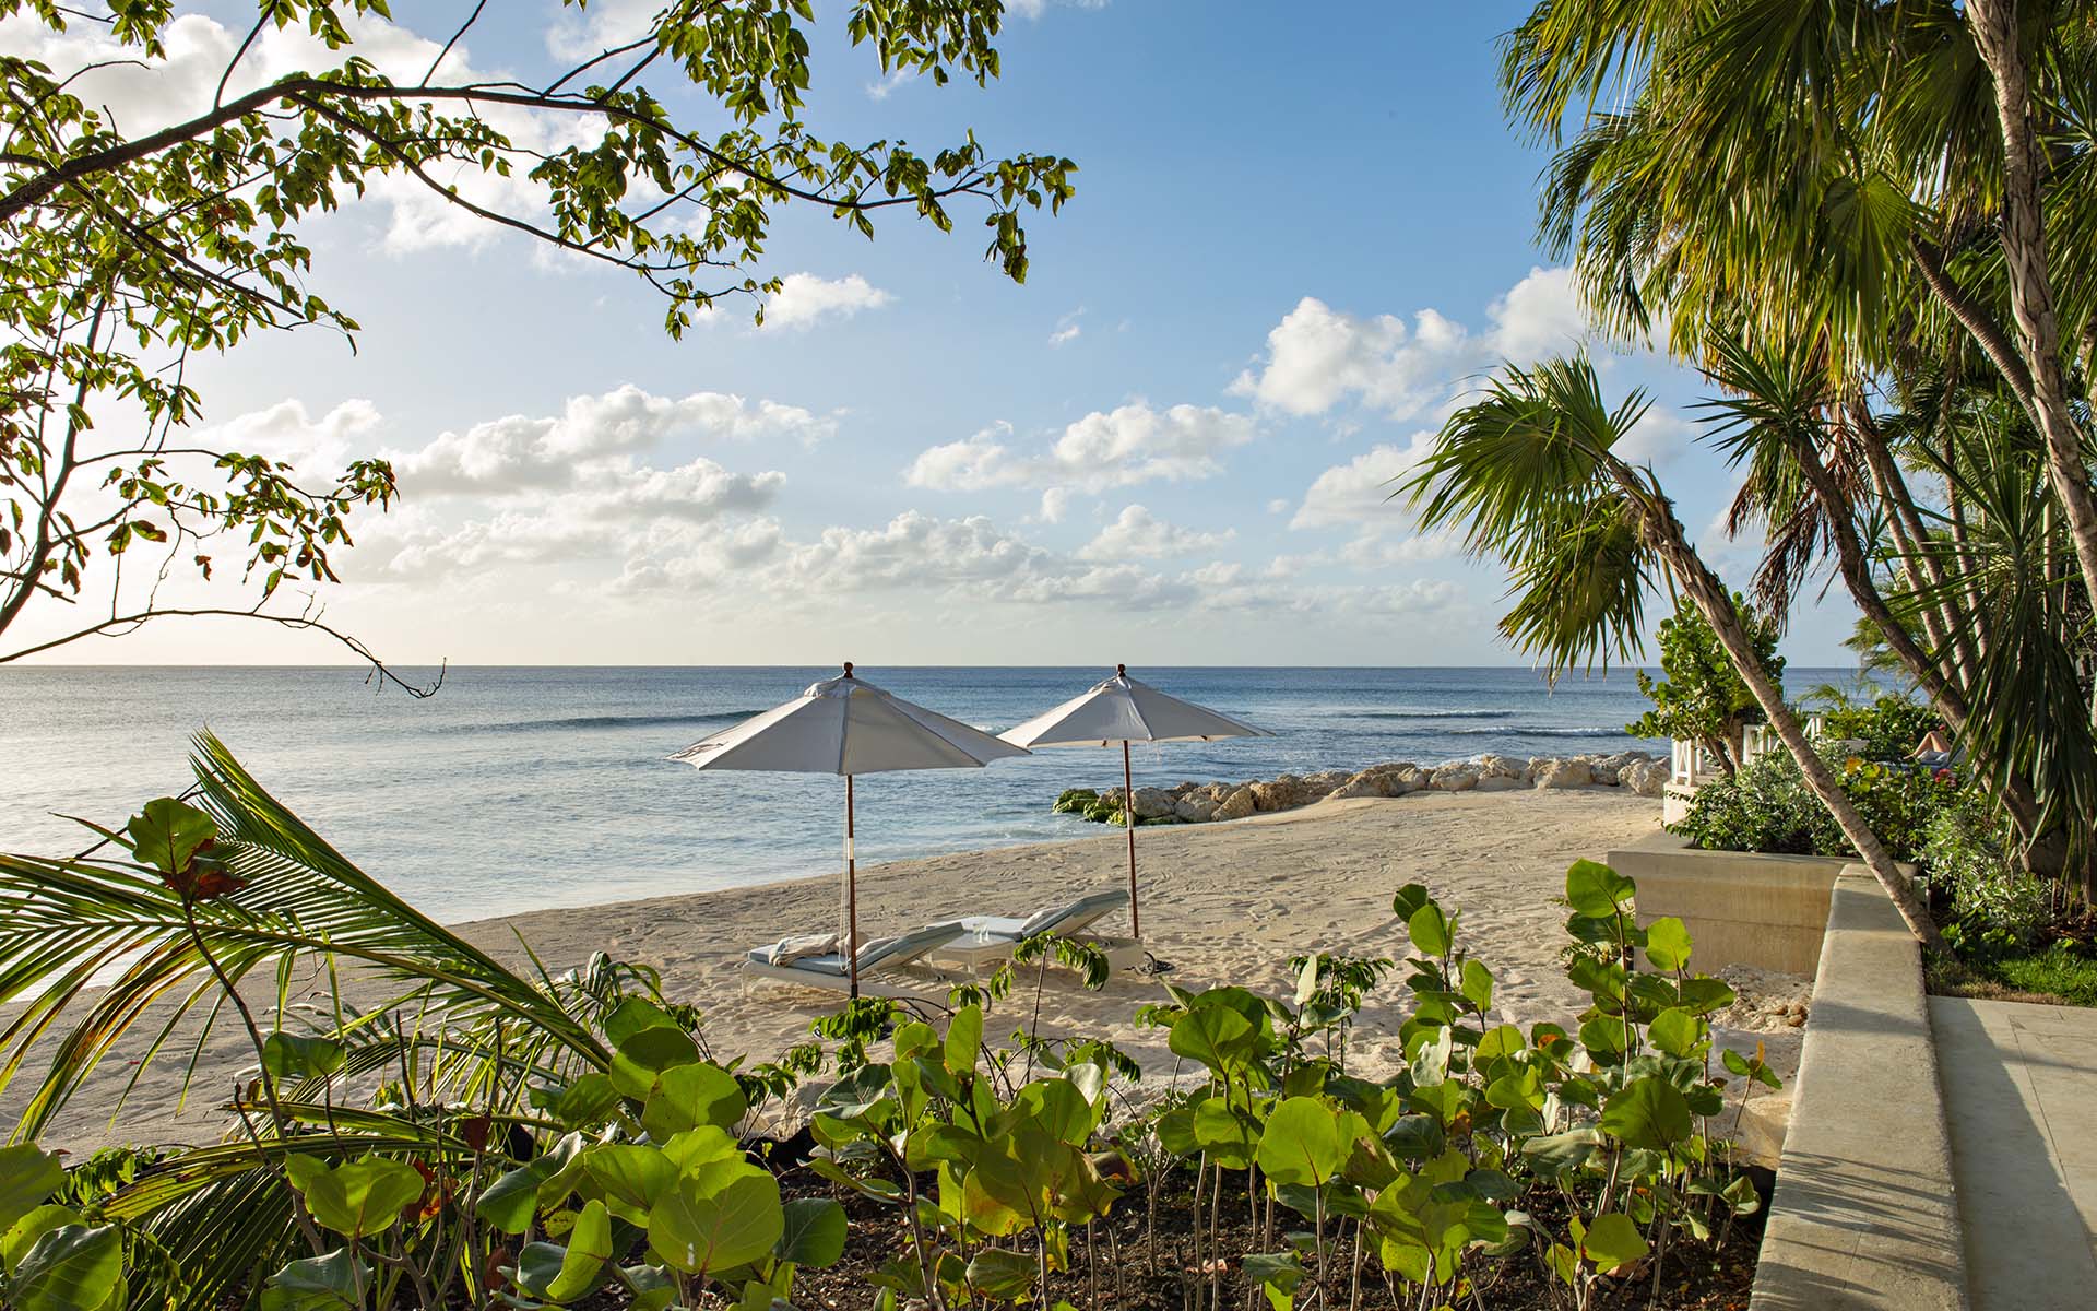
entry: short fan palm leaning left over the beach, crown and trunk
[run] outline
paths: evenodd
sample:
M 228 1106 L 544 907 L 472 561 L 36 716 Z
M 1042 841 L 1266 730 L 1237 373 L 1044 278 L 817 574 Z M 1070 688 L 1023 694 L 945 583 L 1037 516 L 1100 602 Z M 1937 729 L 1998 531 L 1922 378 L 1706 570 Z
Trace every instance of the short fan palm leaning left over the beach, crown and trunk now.
M 1929 910 L 1755 659 L 1732 592 L 1690 545 L 1659 478 L 1615 453 L 1648 405 L 1634 392 L 1610 409 L 1583 354 L 1510 365 L 1483 399 L 1443 424 L 1434 451 L 1399 495 L 1411 499 L 1422 529 L 1460 529 L 1470 554 L 1508 566 L 1514 606 L 1499 629 L 1552 675 L 1636 654 L 1657 581 L 1686 594 L 1902 921 L 1940 946 Z

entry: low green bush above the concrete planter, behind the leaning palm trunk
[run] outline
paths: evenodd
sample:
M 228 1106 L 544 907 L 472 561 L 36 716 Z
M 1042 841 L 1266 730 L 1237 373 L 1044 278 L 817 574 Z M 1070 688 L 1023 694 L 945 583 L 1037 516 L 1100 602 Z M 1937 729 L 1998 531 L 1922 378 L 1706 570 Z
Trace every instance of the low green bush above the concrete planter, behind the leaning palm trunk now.
M 1919 862 L 1931 818 L 1957 795 L 1952 776 L 1860 759 L 1831 761 L 1831 766 L 1841 776 L 1843 793 L 1894 860 Z M 1699 787 L 1690 812 L 1669 831 L 1707 852 L 1854 854 L 1841 824 L 1785 751 L 1759 755 L 1732 778 Z

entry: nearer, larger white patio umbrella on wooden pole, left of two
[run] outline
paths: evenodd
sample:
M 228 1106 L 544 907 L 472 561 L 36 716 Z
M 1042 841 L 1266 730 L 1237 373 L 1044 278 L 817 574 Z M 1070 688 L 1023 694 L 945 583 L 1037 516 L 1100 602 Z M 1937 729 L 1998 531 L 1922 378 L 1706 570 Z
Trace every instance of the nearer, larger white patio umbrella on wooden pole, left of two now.
M 845 776 L 845 961 L 851 994 L 860 994 L 860 885 L 851 841 L 851 778 L 891 770 L 973 770 L 994 759 L 1028 755 L 998 738 L 948 719 L 923 705 L 889 696 L 845 673 L 700 738 L 671 755 L 700 770 L 768 770 Z

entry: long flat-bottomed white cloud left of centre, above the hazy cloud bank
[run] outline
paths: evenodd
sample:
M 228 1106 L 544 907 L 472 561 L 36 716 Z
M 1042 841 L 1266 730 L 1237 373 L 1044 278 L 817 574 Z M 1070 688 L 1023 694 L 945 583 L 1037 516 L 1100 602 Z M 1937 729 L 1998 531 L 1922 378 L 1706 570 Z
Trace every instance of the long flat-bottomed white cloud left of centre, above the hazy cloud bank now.
M 835 420 L 799 405 L 749 403 L 726 392 L 669 399 L 625 384 L 570 396 L 558 415 L 505 415 L 442 432 L 419 451 L 394 455 L 394 468 L 409 493 L 510 495 L 585 485 L 600 466 L 648 451 L 675 432 L 809 443 L 835 430 Z

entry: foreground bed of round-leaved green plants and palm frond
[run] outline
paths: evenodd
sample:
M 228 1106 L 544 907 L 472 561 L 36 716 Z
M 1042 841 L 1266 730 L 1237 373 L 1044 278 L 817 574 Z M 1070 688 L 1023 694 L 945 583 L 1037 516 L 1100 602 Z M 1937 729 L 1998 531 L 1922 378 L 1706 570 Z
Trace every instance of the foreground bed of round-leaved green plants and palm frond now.
M 1713 1045 L 1732 990 L 1682 923 L 1638 927 L 1594 862 L 1564 879 L 1571 1028 L 1495 1024 L 1462 915 L 1407 885 L 1397 959 L 1302 957 L 1285 998 L 1168 986 L 1164 1089 L 1107 1043 L 996 1036 L 1030 961 L 1082 961 L 1046 938 L 753 1063 L 644 967 L 516 973 L 426 921 L 220 743 L 195 770 L 105 854 L 0 858 L 0 1070 L 55 1053 L 4 1149 L 10 1305 L 1673 1307 L 1751 1267 L 1728 1135 L 1778 1080 Z M 1399 984 L 1405 1061 L 1367 1078 L 1353 1017 Z M 208 1078 L 212 1030 L 239 1040 L 193 1089 L 224 1137 L 40 1152 L 134 1028 Z M 759 1133 L 818 1076 L 807 1133 Z

